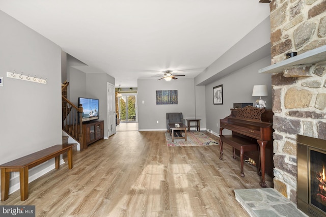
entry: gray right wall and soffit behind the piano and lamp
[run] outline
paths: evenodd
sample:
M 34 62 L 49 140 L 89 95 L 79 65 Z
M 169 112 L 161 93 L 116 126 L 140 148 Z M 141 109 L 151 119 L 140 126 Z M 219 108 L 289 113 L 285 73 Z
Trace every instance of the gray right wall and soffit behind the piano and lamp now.
M 220 119 L 228 116 L 233 103 L 255 103 L 254 85 L 266 84 L 267 109 L 271 109 L 271 75 L 258 70 L 270 65 L 270 21 L 263 20 L 249 34 L 216 59 L 195 78 L 195 85 L 205 85 L 206 130 L 219 134 Z M 223 85 L 223 105 L 213 104 L 213 87 Z M 231 133 L 224 130 L 224 133 Z

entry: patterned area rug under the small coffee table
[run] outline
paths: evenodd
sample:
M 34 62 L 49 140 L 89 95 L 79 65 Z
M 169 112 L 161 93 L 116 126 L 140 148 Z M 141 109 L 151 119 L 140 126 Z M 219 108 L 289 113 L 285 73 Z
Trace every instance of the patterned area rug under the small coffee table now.
M 182 133 L 184 136 L 184 133 Z M 218 142 L 203 134 L 202 132 L 187 132 L 187 141 L 184 139 L 174 139 L 172 142 L 172 137 L 170 133 L 165 133 L 165 138 L 167 140 L 168 146 L 206 146 L 206 145 L 218 145 Z

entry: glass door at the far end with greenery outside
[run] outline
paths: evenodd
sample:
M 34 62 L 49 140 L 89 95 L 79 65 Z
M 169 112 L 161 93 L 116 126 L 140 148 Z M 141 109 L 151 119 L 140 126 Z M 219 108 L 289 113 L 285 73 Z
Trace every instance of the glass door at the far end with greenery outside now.
M 118 97 L 120 122 L 137 122 L 137 94 L 121 94 Z

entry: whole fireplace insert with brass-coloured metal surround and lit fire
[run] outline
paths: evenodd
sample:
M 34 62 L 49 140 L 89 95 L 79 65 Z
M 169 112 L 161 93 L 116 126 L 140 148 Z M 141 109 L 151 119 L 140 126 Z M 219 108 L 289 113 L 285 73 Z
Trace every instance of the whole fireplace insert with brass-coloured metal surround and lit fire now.
M 297 135 L 297 208 L 326 216 L 326 140 Z

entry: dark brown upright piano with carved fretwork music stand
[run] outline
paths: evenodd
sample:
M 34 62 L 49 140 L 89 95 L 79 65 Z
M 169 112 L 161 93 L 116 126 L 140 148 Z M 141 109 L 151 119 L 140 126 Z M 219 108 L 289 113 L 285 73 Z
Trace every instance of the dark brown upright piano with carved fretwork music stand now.
M 229 140 L 230 143 L 238 142 L 239 144 L 256 144 L 257 142 L 259 151 L 252 150 L 244 155 L 258 162 L 258 165 L 256 165 L 258 166 L 257 171 L 262 178 L 259 184 L 263 188 L 267 187 L 265 172 L 273 177 L 273 115 L 274 113 L 271 110 L 246 106 L 231 109 L 231 114 L 220 120 L 220 159 L 222 160 L 223 155 L 223 141 L 227 143 L 227 140 Z M 231 130 L 232 136 L 224 136 L 222 134 L 224 129 Z M 243 173 L 243 162 L 241 162 L 241 166 Z

